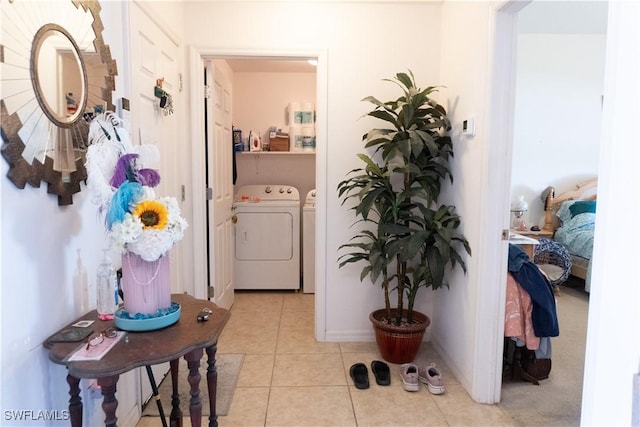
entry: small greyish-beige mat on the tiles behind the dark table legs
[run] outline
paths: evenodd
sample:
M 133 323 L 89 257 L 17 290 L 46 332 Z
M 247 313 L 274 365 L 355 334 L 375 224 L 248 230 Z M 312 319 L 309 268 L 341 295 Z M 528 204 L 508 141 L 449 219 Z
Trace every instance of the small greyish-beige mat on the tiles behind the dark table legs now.
M 244 360 L 243 354 L 217 354 L 216 355 L 216 368 L 218 370 L 218 389 L 216 396 L 216 413 L 218 415 L 227 415 L 229 408 L 231 407 L 231 400 L 233 399 L 233 393 L 238 384 L 238 377 L 240 376 L 240 370 L 242 369 L 242 362 Z M 191 386 L 187 381 L 189 370 L 187 369 L 187 362 L 184 358 L 180 359 L 180 366 L 178 368 L 178 390 L 180 392 L 180 409 L 184 416 L 189 416 L 189 400 L 191 396 L 189 390 Z M 207 393 L 207 362 L 206 355 L 200 361 L 200 401 L 202 402 L 202 416 L 208 416 L 209 414 L 209 394 Z M 171 375 L 162 380 L 158 386 L 160 393 L 160 401 L 162 402 L 162 409 L 165 417 L 169 419 L 171 414 Z M 158 417 L 160 416 L 158 405 L 156 400 L 152 397 L 146 404 L 142 411 L 143 417 Z

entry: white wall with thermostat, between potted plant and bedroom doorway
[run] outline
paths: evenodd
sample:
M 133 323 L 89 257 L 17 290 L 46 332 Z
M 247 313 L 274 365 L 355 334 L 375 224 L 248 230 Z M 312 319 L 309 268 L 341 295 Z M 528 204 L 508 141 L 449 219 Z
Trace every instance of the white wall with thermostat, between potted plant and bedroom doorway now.
M 432 340 L 472 398 L 492 403 L 492 378 L 500 331 L 500 265 L 506 245 L 500 240 L 501 186 L 508 176 L 509 150 L 502 150 L 490 125 L 494 2 L 447 1 L 443 5 L 441 84 L 454 124 L 453 191 L 472 249 L 468 272 L 451 276 L 451 289 L 438 292 Z M 461 122 L 475 117 L 476 135 L 461 136 Z M 493 161 L 493 167 L 488 162 Z M 506 220 L 506 214 L 503 215 Z M 505 270 L 506 271 L 506 270 Z M 504 308 L 504 298 L 502 299 Z M 478 331 L 485 339 L 478 340 Z M 488 331 L 488 332 L 487 332 Z M 493 335 L 492 335 L 493 332 Z M 486 338 L 491 335 L 491 339 Z M 498 390 L 499 395 L 499 390 Z

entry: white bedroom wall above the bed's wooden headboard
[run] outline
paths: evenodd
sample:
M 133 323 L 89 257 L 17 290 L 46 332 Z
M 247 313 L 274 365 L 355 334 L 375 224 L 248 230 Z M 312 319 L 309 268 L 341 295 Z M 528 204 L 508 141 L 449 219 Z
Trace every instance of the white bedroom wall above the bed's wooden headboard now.
M 605 44 L 605 34 L 518 35 L 511 201 L 529 203 L 527 226 L 544 225 L 547 186 L 560 194 L 598 175 Z

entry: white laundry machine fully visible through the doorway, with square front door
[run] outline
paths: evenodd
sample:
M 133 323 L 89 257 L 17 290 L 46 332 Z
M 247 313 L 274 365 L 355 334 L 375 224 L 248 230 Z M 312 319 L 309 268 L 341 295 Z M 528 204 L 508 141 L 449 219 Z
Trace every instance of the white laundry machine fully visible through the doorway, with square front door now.
M 300 193 L 246 185 L 234 197 L 235 289 L 300 289 Z

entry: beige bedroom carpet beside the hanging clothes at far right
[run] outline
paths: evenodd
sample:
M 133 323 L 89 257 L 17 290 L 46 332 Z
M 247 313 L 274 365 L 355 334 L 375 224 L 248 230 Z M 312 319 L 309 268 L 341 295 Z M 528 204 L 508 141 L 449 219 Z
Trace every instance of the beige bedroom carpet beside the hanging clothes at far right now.
M 551 339 L 551 373 L 548 379 L 533 385 L 524 381 L 502 384 L 500 406 L 515 425 L 579 426 L 582 405 L 582 376 L 587 333 L 589 294 L 584 281 L 571 278 L 560 286 L 556 309 L 560 336 Z

